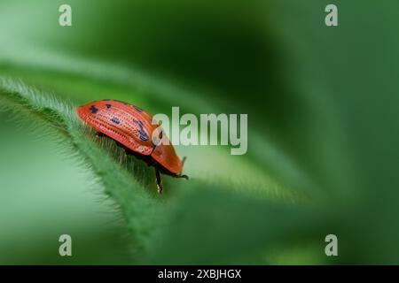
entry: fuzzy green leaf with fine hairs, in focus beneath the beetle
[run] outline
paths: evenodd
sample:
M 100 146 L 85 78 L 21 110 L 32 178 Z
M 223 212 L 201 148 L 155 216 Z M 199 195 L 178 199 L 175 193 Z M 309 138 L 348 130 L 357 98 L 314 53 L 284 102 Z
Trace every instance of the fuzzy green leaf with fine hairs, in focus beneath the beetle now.
M 165 223 L 170 223 L 170 219 L 173 219 L 171 215 L 180 214 L 186 205 L 191 206 L 190 202 L 185 202 L 184 199 L 181 200 L 179 191 L 182 193 L 184 191 L 195 192 L 201 190 L 201 188 L 213 187 L 215 190 L 220 190 L 217 193 L 218 195 L 215 195 L 215 199 L 222 200 L 222 195 L 226 195 L 226 198 L 230 197 L 229 191 L 231 189 L 229 187 L 231 186 L 236 187 L 235 190 L 237 192 L 241 192 L 241 194 L 245 193 L 245 195 L 247 195 L 245 190 L 251 187 L 251 185 L 246 185 L 245 182 L 231 182 L 231 186 L 228 186 L 228 183 L 224 183 L 225 185 L 221 186 L 223 184 L 223 181 L 221 182 L 223 180 L 223 170 L 220 170 L 215 172 L 215 176 L 211 178 L 210 176 L 202 176 L 205 178 L 197 180 L 194 178 L 191 181 L 173 180 L 175 191 L 178 195 L 173 201 L 164 202 L 162 198 L 168 199 L 168 191 L 167 195 L 162 196 L 162 198 L 155 194 L 152 168 L 148 168 L 134 157 L 126 156 L 124 151 L 111 139 L 106 137 L 97 138 L 95 131 L 90 129 L 89 126 L 85 126 L 78 119 L 74 111 L 74 105 L 71 103 L 66 103 L 66 101 L 63 101 L 59 97 L 45 93 L 37 88 L 27 87 L 20 80 L 12 80 L 4 77 L 0 80 L 0 97 L 3 107 L 12 111 L 14 118 L 24 119 L 25 117 L 30 119 L 32 117 L 39 124 L 44 123 L 45 125 L 52 126 L 59 133 L 59 142 L 63 145 L 68 144 L 72 150 L 75 150 L 77 157 L 81 158 L 82 164 L 90 166 L 97 176 L 98 181 L 104 186 L 105 193 L 112 196 L 114 202 L 120 207 L 130 233 L 135 236 L 137 246 L 144 251 L 144 254 L 149 255 L 152 261 L 158 261 L 151 259 L 153 256 L 162 260 L 162 256 L 158 255 L 158 253 L 153 253 L 154 247 L 158 245 L 157 243 L 163 242 L 164 236 L 168 235 L 171 231 L 175 231 L 174 233 L 176 233 L 176 231 L 181 231 L 182 229 L 181 227 L 176 227 L 174 230 L 165 229 Z M 218 154 L 217 150 L 214 150 L 214 154 Z M 195 160 L 195 157 L 192 158 Z M 223 155 L 218 154 L 218 158 L 223 160 Z M 251 167 L 251 164 L 243 163 L 243 160 L 237 163 L 237 165 L 239 168 L 249 167 L 246 174 L 251 172 L 251 170 L 256 172 L 255 168 Z M 224 170 L 228 170 L 227 172 L 231 170 L 227 164 L 224 168 Z M 261 172 L 259 173 L 262 174 Z M 222 178 L 218 176 L 222 176 Z M 246 181 L 249 180 L 251 178 L 248 178 Z M 272 179 L 264 181 L 270 186 L 278 186 Z M 172 187 L 171 180 L 167 180 L 167 184 Z M 257 193 L 254 190 L 249 190 L 253 192 L 250 195 L 255 194 L 265 198 L 267 195 L 263 195 L 265 192 L 263 191 L 264 184 L 262 182 L 258 184 L 262 187 L 259 187 Z M 256 184 L 252 186 L 256 186 Z M 291 201 L 303 199 L 303 195 L 285 195 L 286 193 L 283 192 L 284 188 L 280 187 L 272 195 L 278 195 L 278 199 L 280 200 L 284 200 L 286 197 Z M 198 203 L 194 203 L 194 205 L 198 205 Z M 250 214 L 248 217 L 252 217 L 252 215 Z M 189 231 L 187 229 L 190 229 L 190 222 L 184 222 L 183 224 L 186 226 L 183 229 Z M 171 225 L 170 227 L 175 226 Z M 225 235 L 225 233 L 222 231 L 215 235 L 217 236 L 215 239 L 218 239 L 218 237 Z M 166 237 L 166 239 L 173 240 L 175 238 L 172 236 L 171 238 Z M 165 243 L 165 247 L 175 247 L 173 242 L 170 241 L 172 246 L 169 246 L 168 242 Z M 176 247 L 176 250 L 184 249 Z M 159 249 L 159 251 L 162 251 L 162 249 Z M 203 250 L 198 250 L 197 252 L 200 256 Z M 217 258 L 219 257 L 215 256 L 215 259 Z M 223 260 L 223 258 L 224 256 L 219 259 Z M 176 256 L 175 260 L 178 260 L 178 256 Z

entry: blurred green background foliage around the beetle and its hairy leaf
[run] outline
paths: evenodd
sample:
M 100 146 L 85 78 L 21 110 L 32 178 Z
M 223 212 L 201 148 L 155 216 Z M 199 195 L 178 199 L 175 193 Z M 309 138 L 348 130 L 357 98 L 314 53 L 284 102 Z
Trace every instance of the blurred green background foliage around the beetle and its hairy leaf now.
M 60 4 L 72 27 L 59 27 Z M 327 4 L 339 27 L 325 26 Z M 398 16 L 395 0 L 2 0 L 0 75 L 76 105 L 248 114 L 245 156 L 177 149 L 206 185 L 182 198 L 176 213 L 189 212 L 151 263 L 399 264 Z M 90 169 L 51 130 L 9 117 L 0 264 L 148 263 Z M 61 233 L 74 256 L 58 255 Z M 328 233 L 338 258 L 324 254 Z

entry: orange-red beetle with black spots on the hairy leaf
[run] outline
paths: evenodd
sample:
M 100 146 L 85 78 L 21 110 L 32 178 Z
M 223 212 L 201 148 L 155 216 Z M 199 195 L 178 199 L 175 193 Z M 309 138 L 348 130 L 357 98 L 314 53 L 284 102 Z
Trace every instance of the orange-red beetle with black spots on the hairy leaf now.
M 155 145 L 153 132 L 158 125 L 153 125 L 153 117 L 135 105 L 117 100 L 101 100 L 82 105 L 77 108 L 78 116 L 99 134 L 104 134 L 119 142 L 128 154 L 145 160 L 155 168 L 155 180 L 158 193 L 162 193 L 160 172 L 176 178 L 188 179 L 182 175 L 185 157 L 181 161 L 176 155 L 173 145 L 161 142 Z M 162 141 L 168 139 L 162 137 Z

